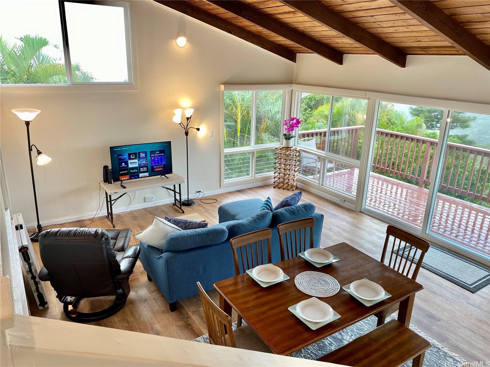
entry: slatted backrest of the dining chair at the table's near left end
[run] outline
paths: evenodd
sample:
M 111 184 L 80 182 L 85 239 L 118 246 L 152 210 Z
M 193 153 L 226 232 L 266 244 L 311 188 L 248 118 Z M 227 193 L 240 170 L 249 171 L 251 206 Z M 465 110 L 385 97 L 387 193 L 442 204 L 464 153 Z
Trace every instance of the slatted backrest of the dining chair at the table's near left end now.
M 204 318 L 206 319 L 206 326 L 208 328 L 209 343 L 236 347 L 235 338 L 233 337 L 233 331 L 231 327 L 231 318 L 218 307 L 211 298 L 207 295 L 201 286 L 201 283 L 197 282 L 197 289 L 199 290 L 199 296 L 202 302 L 202 308 L 204 310 Z M 226 332 L 228 331 L 228 342 L 226 341 Z

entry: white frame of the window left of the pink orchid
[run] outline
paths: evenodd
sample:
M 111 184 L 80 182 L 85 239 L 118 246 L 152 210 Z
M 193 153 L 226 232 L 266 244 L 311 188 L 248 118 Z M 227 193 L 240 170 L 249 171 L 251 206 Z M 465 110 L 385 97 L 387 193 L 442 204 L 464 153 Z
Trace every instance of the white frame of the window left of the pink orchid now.
M 224 149 L 224 92 L 240 92 L 250 91 L 252 92 L 252 113 L 250 120 L 250 146 L 237 147 Z M 290 84 L 277 84 L 277 85 L 221 85 L 221 187 L 235 186 L 241 182 L 263 182 L 270 180 L 274 172 L 266 172 L 257 174 L 256 171 L 256 158 L 257 152 L 264 150 L 274 150 L 274 148 L 281 144 L 282 134 L 284 133 L 284 126 L 281 124 L 281 130 L 279 132 L 279 141 L 266 144 L 255 144 L 255 128 L 256 128 L 256 92 L 259 91 L 282 91 L 282 113 L 281 121 L 285 120 L 286 115 L 290 112 L 291 101 L 291 85 Z M 236 153 L 250 153 L 250 175 L 246 177 L 239 177 L 236 179 L 224 179 L 224 159 L 225 156 Z

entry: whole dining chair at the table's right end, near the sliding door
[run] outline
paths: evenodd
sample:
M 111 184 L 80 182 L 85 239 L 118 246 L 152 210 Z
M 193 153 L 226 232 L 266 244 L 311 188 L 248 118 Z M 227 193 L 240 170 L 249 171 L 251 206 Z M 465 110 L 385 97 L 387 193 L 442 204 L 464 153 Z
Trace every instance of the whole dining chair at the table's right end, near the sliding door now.
M 427 250 L 429 250 L 429 243 L 427 241 L 403 229 L 388 226 L 386 229 L 385 245 L 381 253 L 381 262 L 398 273 L 408 276 L 412 280 L 416 280 Z M 388 251 L 390 251 L 389 260 Z M 418 258 L 416 257 L 417 254 Z M 374 314 L 378 318 L 377 326 L 383 325 L 386 318 L 398 310 L 399 306 L 400 304 L 396 303 Z

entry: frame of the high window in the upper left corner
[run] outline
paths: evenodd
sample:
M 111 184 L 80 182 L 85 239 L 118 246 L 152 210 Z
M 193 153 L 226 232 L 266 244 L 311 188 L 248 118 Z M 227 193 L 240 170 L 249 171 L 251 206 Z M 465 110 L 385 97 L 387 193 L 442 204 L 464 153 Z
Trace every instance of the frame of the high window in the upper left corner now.
M 72 64 L 70 58 L 70 46 L 69 46 L 69 38 L 66 24 L 66 14 L 65 14 L 65 2 L 74 2 L 74 3 L 84 3 L 91 5 L 101 5 L 101 6 L 115 6 L 122 7 L 124 9 L 124 33 L 126 39 L 126 64 L 127 64 L 127 82 L 73 82 L 73 74 L 72 74 Z M 62 44 L 63 44 L 63 53 L 65 59 L 65 69 L 66 69 L 66 77 L 67 83 L 64 84 L 0 84 L 0 87 L 8 87 L 10 91 L 16 92 L 16 87 L 21 87 L 19 92 L 25 92 L 25 87 L 49 87 L 50 91 L 53 91 L 53 88 L 63 88 L 63 91 L 67 91 L 66 87 L 73 86 L 97 86 L 97 91 L 100 91 L 101 86 L 107 86 L 107 88 L 103 88 L 102 90 L 136 90 L 136 61 L 133 57 L 133 44 L 134 37 L 131 29 L 131 13 L 130 13 L 130 4 L 127 1 L 116 1 L 116 0 L 58 0 L 58 7 L 60 12 L 60 31 L 62 36 Z M 68 89 L 70 90 L 70 89 Z M 38 90 L 36 90 L 38 91 Z

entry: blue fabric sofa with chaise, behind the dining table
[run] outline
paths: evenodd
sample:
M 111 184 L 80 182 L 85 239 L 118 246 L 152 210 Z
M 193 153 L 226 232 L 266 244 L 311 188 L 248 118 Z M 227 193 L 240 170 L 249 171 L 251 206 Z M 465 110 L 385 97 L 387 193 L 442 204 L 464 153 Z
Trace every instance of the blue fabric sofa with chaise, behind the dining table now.
M 311 203 L 284 207 L 274 212 L 259 211 L 260 199 L 241 200 L 219 207 L 219 222 L 202 229 L 188 229 L 169 234 L 163 249 L 140 242 L 140 260 L 148 279 L 153 280 L 167 299 L 170 309 L 176 301 L 196 295 L 196 282 L 205 290 L 235 275 L 230 239 L 254 230 L 272 229 L 272 262 L 281 261 L 277 225 L 296 219 L 315 218 L 314 246 L 319 247 L 323 214 Z

